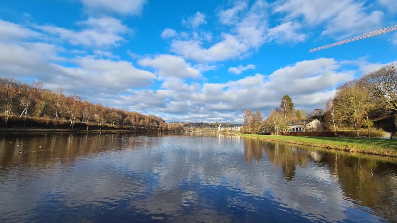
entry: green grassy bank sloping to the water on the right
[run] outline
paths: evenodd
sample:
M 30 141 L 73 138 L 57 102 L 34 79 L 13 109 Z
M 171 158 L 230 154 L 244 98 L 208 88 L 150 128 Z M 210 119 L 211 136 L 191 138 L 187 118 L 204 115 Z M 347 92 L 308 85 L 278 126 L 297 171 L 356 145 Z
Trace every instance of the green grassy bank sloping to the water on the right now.
M 383 156 L 397 157 L 397 140 L 380 138 L 339 138 L 339 137 L 318 137 L 318 136 L 270 136 L 241 134 L 239 136 L 259 138 L 263 140 L 287 142 L 306 146 L 316 146 L 335 150 L 350 152 L 362 152 Z

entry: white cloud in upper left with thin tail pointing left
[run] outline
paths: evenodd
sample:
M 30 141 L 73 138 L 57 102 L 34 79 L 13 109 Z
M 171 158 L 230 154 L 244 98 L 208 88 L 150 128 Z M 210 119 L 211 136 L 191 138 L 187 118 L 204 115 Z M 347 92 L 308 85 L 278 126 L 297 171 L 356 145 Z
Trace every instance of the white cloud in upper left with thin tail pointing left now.
M 89 17 L 77 24 L 86 27 L 86 29 L 75 31 L 53 25 L 35 27 L 48 34 L 56 35 L 70 44 L 84 46 L 117 46 L 119 42 L 125 40 L 122 35 L 130 31 L 126 25 L 122 24 L 121 20 L 113 17 Z

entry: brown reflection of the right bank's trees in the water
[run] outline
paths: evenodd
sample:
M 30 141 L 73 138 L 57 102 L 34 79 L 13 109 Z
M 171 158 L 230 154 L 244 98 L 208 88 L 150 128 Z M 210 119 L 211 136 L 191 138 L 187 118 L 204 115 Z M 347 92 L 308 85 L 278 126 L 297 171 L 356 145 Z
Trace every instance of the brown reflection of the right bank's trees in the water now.
M 379 216 L 397 216 L 397 169 L 394 158 L 382 159 L 368 154 L 351 154 L 252 138 L 244 139 L 243 145 L 247 162 L 269 160 L 281 167 L 287 182 L 293 181 L 297 166 L 306 167 L 310 162 L 326 166 L 339 182 L 347 200 L 372 208 Z

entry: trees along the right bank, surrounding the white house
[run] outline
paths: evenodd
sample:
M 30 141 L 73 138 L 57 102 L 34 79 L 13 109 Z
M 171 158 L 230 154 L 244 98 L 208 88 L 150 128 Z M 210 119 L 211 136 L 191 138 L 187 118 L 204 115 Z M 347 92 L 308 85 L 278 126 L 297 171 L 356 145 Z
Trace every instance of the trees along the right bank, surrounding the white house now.
M 362 127 L 372 127 L 375 117 L 393 117 L 397 129 L 397 66 L 384 65 L 360 79 L 348 81 L 337 88 L 335 96 L 325 104 L 325 111 L 315 109 L 308 115 L 305 110 L 295 110 L 291 97 L 281 98 L 279 108 L 272 110 L 263 120 L 259 111 L 245 111 L 244 132 L 258 133 L 268 129 L 274 134 L 288 128 L 290 121 L 300 123 L 306 131 L 306 120 L 315 118 L 324 123 L 327 131 L 353 127 L 358 135 Z M 322 129 L 317 129 L 322 130 Z

